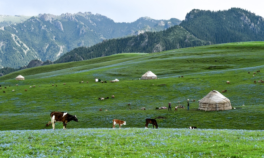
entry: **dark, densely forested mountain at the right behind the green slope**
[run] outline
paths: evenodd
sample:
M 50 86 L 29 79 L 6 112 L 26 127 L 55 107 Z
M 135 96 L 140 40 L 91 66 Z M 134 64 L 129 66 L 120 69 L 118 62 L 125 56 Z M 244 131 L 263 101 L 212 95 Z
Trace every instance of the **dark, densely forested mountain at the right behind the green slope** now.
M 193 9 L 187 13 L 180 26 L 212 44 L 264 41 L 263 17 L 241 8 L 224 11 Z

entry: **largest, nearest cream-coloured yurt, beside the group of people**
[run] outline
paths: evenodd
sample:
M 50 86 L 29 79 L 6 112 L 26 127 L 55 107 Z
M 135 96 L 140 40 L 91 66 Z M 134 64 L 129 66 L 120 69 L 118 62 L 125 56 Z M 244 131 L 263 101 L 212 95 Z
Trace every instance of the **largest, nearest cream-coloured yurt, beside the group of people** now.
M 199 110 L 218 111 L 231 110 L 230 100 L 218 91 L 211 91 L 199 101 Z

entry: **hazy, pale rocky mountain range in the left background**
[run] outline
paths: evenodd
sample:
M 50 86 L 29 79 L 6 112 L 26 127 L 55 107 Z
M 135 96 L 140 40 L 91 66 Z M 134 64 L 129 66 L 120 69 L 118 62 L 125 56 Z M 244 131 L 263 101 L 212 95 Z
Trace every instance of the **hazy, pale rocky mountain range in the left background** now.
M 35 59 L 54 61 L 76 47 L 89 47 L 106 39 L 146 31 L 161 31 L 181 22 L 176 18 L 155 20 L 142 17 L 131 23 L 116 23 L 91 12 L 60 16 L 39 14 L 27 20 L 20 16 L 2 17 L 6 21 L 2 19 L 0 23 L 0 66 L 13 68 L 26 66 Z M 20 21 L 15 21 L 18 18 Z

